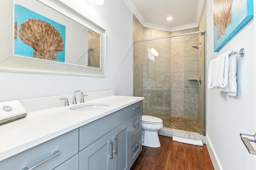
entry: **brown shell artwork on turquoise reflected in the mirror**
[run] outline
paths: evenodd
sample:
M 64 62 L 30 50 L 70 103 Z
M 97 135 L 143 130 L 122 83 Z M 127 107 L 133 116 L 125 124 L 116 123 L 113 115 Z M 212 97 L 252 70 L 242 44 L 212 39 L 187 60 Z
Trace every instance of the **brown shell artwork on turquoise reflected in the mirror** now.
M 14 10 L 14 55 L 64 62 L 66 27 L 18 4 Z

